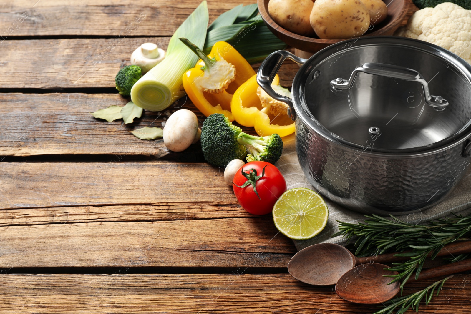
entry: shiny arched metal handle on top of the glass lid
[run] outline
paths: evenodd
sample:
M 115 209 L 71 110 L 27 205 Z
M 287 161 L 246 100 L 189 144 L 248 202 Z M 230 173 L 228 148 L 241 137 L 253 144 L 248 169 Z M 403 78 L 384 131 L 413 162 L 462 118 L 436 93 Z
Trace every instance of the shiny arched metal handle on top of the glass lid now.
M 445 107 L 448 105 L 448 102 L 443 99 L 443 97 L 430 95 L 429 84 L 427 83 L 427 81 L 425 81 L 425 79 L 419 72 L 413 69 L 406 68 L 404 66 L 384 63 L 365 63 L 353 70 L 348 80 L 344 80 L 339 77 L 335 80 L 332 80 L 330 82 L 330 85 L 335 90 L 351 89 L 353 83 L 355 82 L 355 79 L 357 78 L 358 72 L 386 76 L 393 79 L 405 81 L 419 82 L 422 84 L 425 102 L 427 103 L 427 105 L 433 107 L 433 109 L 437 111 L 445 110 Z

